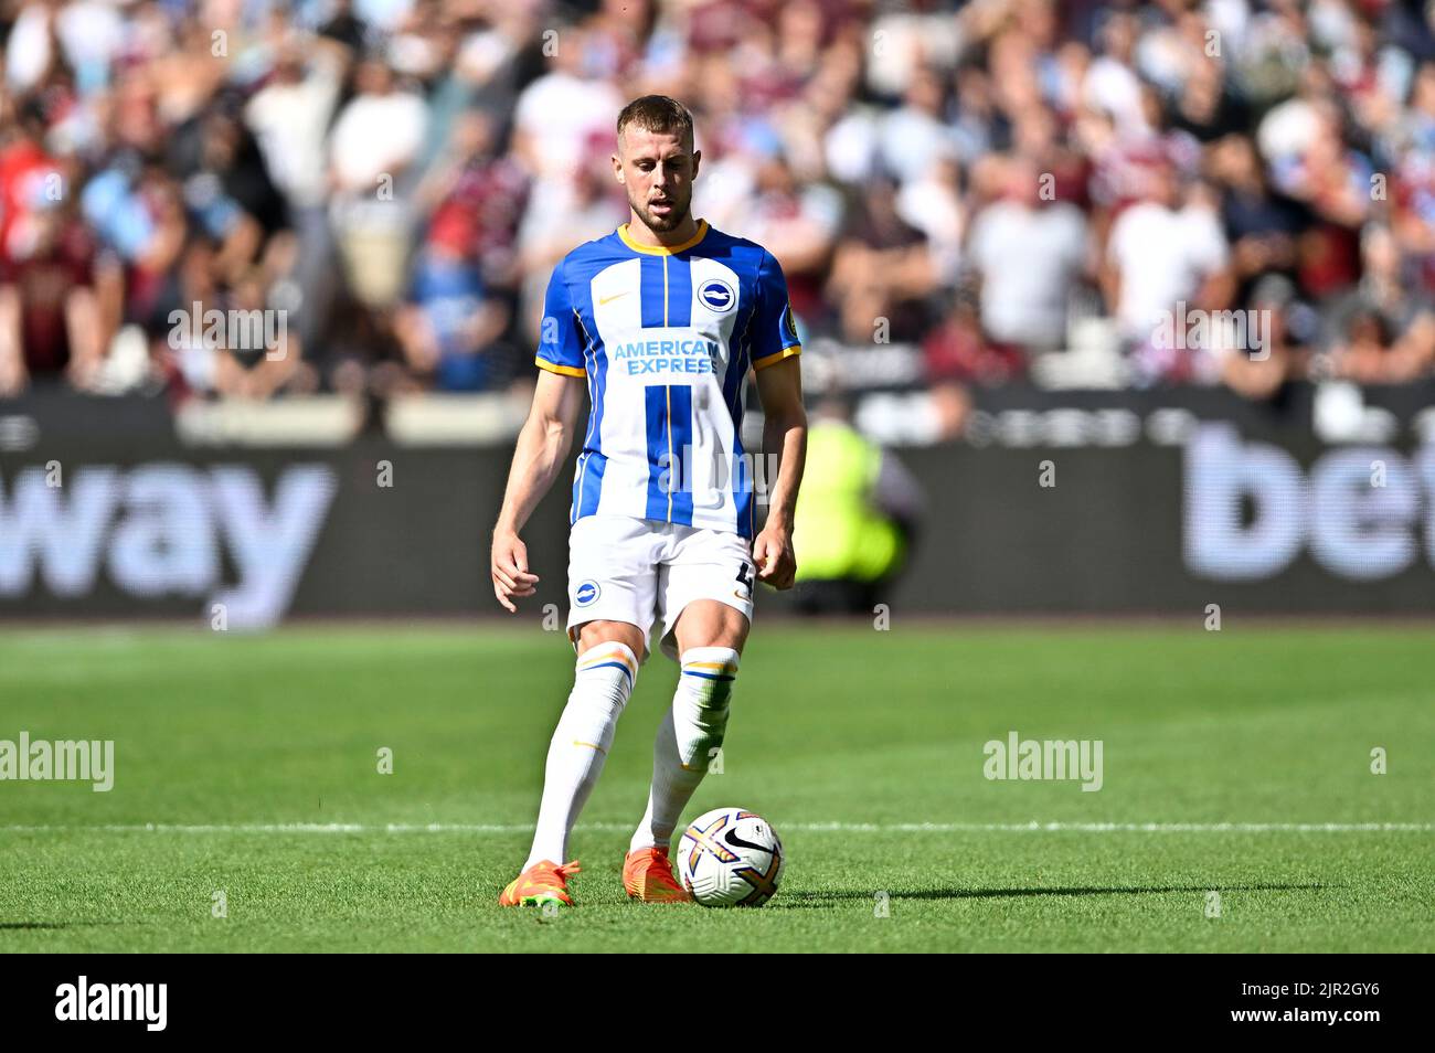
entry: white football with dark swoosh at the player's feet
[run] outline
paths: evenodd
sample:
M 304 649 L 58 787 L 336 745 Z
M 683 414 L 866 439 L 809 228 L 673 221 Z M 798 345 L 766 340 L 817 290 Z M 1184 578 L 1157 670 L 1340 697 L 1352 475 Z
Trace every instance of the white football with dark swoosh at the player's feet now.
M 756 812 L 715 808 L 683 831 L 677 867 L 703 907 L 761 907 L 782 879 L 782 841 Z

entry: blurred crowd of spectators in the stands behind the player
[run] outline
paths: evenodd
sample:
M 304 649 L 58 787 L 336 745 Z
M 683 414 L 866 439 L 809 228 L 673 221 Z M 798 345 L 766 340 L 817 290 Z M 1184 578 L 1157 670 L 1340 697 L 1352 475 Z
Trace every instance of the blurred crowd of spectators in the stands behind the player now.
M 693 109 L 695 212 L 772 250 L 804 339 L 918 347 L 956 416 L 1078 347 L 1251 399 L 1409 382 L 1432 26 L 1415 0 L 0 0 L 0 396 L 530 383 L 552 265 L 627 217 L 613 125 L 650 92 Z M 281 313 L 283 351 L 197 307 Z

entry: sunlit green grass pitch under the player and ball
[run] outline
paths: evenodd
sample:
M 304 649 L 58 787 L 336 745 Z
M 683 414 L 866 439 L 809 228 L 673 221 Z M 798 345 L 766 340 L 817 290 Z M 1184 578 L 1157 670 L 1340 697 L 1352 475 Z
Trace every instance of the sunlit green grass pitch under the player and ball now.
M 1428 628 L 1227 621 L 759 621 L 684 813 L 782 834 L 756 911 L 623 897 L 676 679 L 654 656 L 551 918 L 495 898 L 570 684 L 560 633 L 7 630 L 0 739 L 113 739 L 116 778 L 0 782 L 0 951 L 1435 948 Z M 1104 788 L 986 779 L 1012 730 L 1102 740 Z M 1058 826 L 1003 828 L 1029 822 Z

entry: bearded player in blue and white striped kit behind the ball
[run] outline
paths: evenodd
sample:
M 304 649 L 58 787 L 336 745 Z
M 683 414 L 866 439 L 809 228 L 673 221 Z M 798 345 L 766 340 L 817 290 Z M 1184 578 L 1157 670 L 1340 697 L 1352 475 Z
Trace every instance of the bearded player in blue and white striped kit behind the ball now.
M 548 283 L 541 372 L 494 528 L 492 578 L 509 611 L 534 594 L 538 575 L 519 532 L 564 463 L 587 390 L 568 516 L 568 638 L 578 657 L 548 746 L 532 849 L 498 898 L 505 907 L 573 904 L 568 835 L 647 660 L 654 618 L 682 673 L 653 743 L 653 786 L 623 887 L 644 902 L 687 899 L 667 858 L 673 829 L 722 746 L 756 582 L 791 588 L 796 574 L 802 347 L 778 261 L 692 217 L 700 161 L 682 103 L 649 95 L 624 106 L 613 174 L 629 222 L 568 252 Z M 740 438 L 749 369 L 766 456 L 778 465 L 756 537 Z

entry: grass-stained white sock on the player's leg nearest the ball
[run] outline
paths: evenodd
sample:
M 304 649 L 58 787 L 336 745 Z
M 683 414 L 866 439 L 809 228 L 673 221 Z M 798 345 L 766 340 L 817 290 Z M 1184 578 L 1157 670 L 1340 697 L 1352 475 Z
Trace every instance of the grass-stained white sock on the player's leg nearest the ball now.
M 728 730 L 728 703 L 738 679 L 738 651 L 730 647 L 689 647 L 682 654 L 673 706 L 653 742 L 653 789 L 647 812 L 629 845 L 667 848 L 677 819 L 707 775 Z

